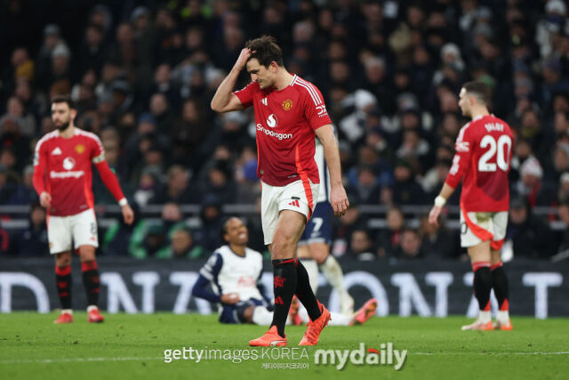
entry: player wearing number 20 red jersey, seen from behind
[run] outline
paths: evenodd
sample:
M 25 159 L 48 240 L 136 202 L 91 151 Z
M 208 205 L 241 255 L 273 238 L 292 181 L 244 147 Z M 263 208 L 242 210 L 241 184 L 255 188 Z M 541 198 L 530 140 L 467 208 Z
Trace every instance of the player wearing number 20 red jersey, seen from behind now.
M 467 247 L 474 271 L 474 293 L 480 312 L 463 330 L 511 330 L 508 278 L 502 268 L 500 250 L 506 236 L 509 210 L 508 174 L 513 136 L 503 120 L 488 112 L 490 89 L 482 82 L 461 88 L 459 106 L 472 120 L 461 128 L 454 149 L 453 166 L 446 177 L 429 222 L 437 217 L 446 199 L 462 182 L 461 247 Z M 498 300 L 496 322 L 490 317 L 490 292 Z

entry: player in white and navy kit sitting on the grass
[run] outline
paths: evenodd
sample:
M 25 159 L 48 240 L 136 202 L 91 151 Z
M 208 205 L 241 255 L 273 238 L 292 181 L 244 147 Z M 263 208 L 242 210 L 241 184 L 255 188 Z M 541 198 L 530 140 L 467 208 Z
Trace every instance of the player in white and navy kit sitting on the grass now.
M 221 235 L 228 242 L 218 248 L 204 267 L 192 289 L 192 295 L 219 304 L 221 323 L 254 323 L 269 326 L 273 320 L 273 305 L 260 284 L 262 256 L 247 247 L 249 232 L 244 222 L 231 217 L 223 223 Z M 208 289 L 211 285 L 212 291 Z M 356 316 L 332 313 L 331 325 L 348 326 L 364 323 Z M 304 322 L 309 322 L 308 316 Z M 290 323 L 290 321 L 287 321 Z

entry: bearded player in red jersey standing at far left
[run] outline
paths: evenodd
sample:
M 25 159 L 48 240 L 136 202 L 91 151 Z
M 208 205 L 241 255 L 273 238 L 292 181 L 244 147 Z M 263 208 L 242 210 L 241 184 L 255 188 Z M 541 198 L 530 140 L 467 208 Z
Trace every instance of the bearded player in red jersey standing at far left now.
M 52 101 L 52 120 L 56 130 L 46 133 L 36 144 L 34 188 L 40 204 L 47 209 L 47 235 L 50 252 L 55 255 L 55 281 L 61 314 L 55 323 L 73 322 L 71 309 L 71 241 L 81 258 L 83 283 L 87 295 L 87 320 L 102 322 L 99 302 L 99 271 L 95 261 L 97 221 L 92 195 L 92 164 L 108 190 L 122 206 L 124 222 L 134 219 L 116 175 L 105 161 L 105 152 L 96 134 L 73 124 L 73 101 L 59 96 Z

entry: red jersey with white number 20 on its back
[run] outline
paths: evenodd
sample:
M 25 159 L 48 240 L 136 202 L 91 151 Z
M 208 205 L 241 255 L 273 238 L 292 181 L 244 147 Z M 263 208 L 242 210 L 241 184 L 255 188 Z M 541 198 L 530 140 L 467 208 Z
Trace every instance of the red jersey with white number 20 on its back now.
M 509 125 L 493 115 L 477 117 L 461 128 L 446 183 L 456 188 L 464 178 L 461 193 L 464 211 L 509 210 L 512 146 Z

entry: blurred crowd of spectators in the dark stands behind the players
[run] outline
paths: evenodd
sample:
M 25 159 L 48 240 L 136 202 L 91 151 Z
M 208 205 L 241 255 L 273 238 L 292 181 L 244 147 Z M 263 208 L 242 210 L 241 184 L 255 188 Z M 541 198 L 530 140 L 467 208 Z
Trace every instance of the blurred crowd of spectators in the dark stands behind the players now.
M 251 111 L 217 115 L 212 94 L 249 38 L 276 36 L 290 72 L 322 91 L 337 128 L 354 205 L 336 221 L 346 259 L 461 257 L 458 230 L 418 228 L 399 206 L 430 205 L 452 166 L 466 119 L 466 80 L 493 88 L 493 113 L 512 126 L 507 239 L 516 257 L 569 243 L 569 19 L 561 0 L 3 2 L 0 12 L 0 206 L 35 205 L 35 143 L 54 126 L 50 99 L 70 93 L 76 125 L 100 136 L 134 206 L 161 218 L 116 222 L 102 255 L 206 257 L 220 246 L 221 206 L 257 205 Z M 58 12 L 59 11 L 59 12 Z M 238 87 L 246 85 L 244 73 Z M 93 178 L 99 205 L 114 198 Z M 449 200 L 458 205 L 459 192 Z M 190 228 L 180 205 L 201 206 Z M 368 228 L 362 205 L 389 207 Z M 535 207 L 550 206 L 546 217 Z M 26 230 L 0 229 L 4 255 L 48 255 L 44 210 Z M 3 218 L 8 218 L 4 214 Z M 264 251 L 258 215 L 252 247 Z M 416 226 L 415 226 L 416 227 Z

